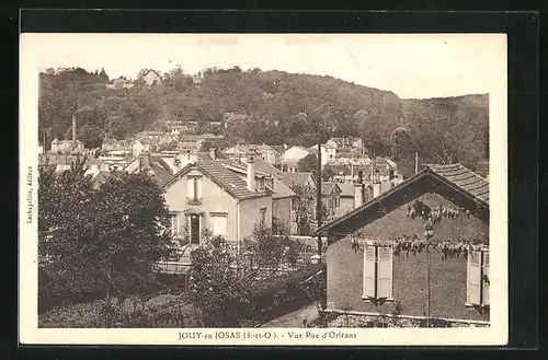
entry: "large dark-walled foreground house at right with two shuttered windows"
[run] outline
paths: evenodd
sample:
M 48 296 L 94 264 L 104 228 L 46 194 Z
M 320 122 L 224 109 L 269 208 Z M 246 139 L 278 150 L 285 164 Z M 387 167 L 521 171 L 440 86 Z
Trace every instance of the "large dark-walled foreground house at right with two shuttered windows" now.
M 355 189 L 356 208 L 313 233 L 328 237 L 328 311 L 375 317 L 398 302 L 400 318 L 487 324 L 489 183 L 429 165 L 365 204 Z

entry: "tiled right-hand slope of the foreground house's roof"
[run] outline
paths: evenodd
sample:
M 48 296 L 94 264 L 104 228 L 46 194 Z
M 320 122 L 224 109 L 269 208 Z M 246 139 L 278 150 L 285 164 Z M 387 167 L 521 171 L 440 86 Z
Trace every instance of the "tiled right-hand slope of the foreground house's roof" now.
M 429 165 L 429 167 L 448 182 L 470 193 L 481 201 L 489 204 L 489 182 L 466 169 L 460 163 L 452 165 Z

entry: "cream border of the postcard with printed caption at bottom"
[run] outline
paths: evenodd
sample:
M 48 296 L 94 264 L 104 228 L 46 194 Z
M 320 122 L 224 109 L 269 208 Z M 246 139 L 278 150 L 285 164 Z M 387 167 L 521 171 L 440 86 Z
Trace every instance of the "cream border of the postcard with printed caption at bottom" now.
M 436 346 L 505 345 L 509 328 L 507 274 L 507 47 L 505 34 L 491 36 L 501 44 L 500 77 L 492 79 L 490 116 L 490 251 L 491 325 L 484 328 L 189 328 L 189 329 L 76 329 L 38 328 L 37 316 L 37 178 L 38 178 L 38 58 L 39 36 L 20 37 L 20 264 L 19 333 L 26 345 L 205 345 L 205 346 Z M 55 36 L 56 34 L 49 34 Z M 109 36 L 107 34 L 104 34 Z M 390 34 L 393 36 L 396 34 Z M 429 34 L 450 36 L 450 34 Z M 134 34 L 135 36 L 135 34 Z M 142 35 L 142 36 L 162 36 Z M 181 35 L 184 36 L 184 35 Z M 219 36 L 219 34 L 216 34 Z M 248 36 L 261 36 L 260 34 Z M 270 35 L 274 36 L 274 35 Z M 306 34 L 295 35 L 306 36 Z M 319 36 L 319 35 L 315 35 Z M 330 34 L 329 36 L 333 36 Z M 368 34 L 355 36 L 384 36 Z M 413 36 L 413 35 L 401 35 Z M 415 35 L 421 36 L 421 35 Z M 420 85 L 420 84 L 418 84 Z M 28 196 L 31 198 L 28 199 Z M 28 221 L 31 209 L 32 221 Z M 228 333 L 227 333 L 228 332 Z M 301 334 L 295 339 L 289 333 Z M 219 334 L 227 335 L 219 338 Z M 230 333 L 239 338 L 230 338 Z M 201 334 L 197 338 L 196 334 Z M 309 338 L 306 335 L 310 334 Z M 313 335 L 311 335 L 313 334 Z M 342 337 L 330 337 L 339 334 Z M 355 338 L 344 337 L 355 334 Z M 236 336 L 236 335 L 235 335 Z M 318 336 L 318 338 L 316 338 Z M 181 337 L 187 337 L 181 339 Z M 192 338 L 190 338 L 192 337 Z

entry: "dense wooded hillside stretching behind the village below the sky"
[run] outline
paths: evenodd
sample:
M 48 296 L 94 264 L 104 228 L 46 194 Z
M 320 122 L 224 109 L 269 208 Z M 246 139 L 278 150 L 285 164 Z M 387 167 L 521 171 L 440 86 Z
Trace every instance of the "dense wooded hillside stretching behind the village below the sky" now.
M 197 120 L 198 132 L 225 135 L 237 142 L 312 146 L 331 136 L 359 136 L 377 154 L 412 163 L 461 162 L 473 169 L 488 158 L 488 95 L 401 100 L 331 77 L 283 71 L 206 69 L 193 81 L 181 67 L 147 86 L 140 76 L 133 88 L 106 86 L 102 71 L 48 69 L 39 74 L 41 142 L 68 138 L 76 114 L 78 137 L 98 147 L 107 129 L 123 139 L 164 120 Z M 421 84 L 418 84 L 420 86 Z M 225 113 L 247 114 L 244 121 L 214 128 Z

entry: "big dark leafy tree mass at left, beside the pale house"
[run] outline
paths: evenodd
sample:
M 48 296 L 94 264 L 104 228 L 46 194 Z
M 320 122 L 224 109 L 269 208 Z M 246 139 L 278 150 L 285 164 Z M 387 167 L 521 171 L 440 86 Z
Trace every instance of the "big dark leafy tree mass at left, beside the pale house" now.
M 150 265 L 167 254 L 161 189 L 145 174 L 116 174 L 95 189 L 84 161 L 38 187 L 39 290 L 43 298 L 124 297 L 147 289 Z M 89 299 L 88 299 L 89 300 Z

